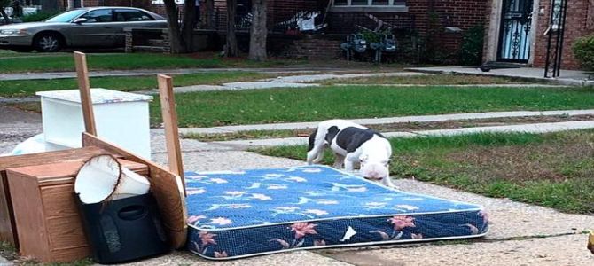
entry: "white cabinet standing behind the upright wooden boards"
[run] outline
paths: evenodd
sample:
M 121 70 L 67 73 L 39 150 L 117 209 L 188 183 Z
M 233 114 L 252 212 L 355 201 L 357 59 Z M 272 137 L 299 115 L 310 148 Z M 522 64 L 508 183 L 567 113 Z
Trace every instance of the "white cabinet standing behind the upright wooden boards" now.
M 79 90 L 40 91 L 45 141 L 68 148 L 82 146 L 84 132 Z M 152 96 L 90 89 L 98 137 L 151 158 L 149 102 Z

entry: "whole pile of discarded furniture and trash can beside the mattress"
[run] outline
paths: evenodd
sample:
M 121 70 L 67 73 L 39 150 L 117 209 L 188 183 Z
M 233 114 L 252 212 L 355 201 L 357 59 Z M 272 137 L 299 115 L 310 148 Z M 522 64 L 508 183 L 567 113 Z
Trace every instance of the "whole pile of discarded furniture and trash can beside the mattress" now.
M 90 89 L 86 58 L 74 57 L 80 92 L 39 93 L 43 134 L 0 157 L 0 239 L 40 262 L 90 256 L 127 262 L 183 247 L 186 210 L 176 114 L 168 104 L 171 78 L 159 76 L 168 169 L 147 159 L 150 99 Z

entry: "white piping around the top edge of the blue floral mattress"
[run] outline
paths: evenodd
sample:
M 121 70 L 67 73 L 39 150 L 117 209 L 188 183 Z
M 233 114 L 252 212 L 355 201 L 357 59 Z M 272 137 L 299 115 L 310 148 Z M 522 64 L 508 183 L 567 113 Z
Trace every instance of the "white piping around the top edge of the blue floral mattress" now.
M 198 226 L 195 226 L 193 224 L 188 223 L 188 226 L 195 229 L 195 230 L 199 230 L 199 231 L 208 231 L 208 232 L 217 232 L 217 231 L 231 231 L 231 230 L 240 230 L 240 229 L 249 229 L 249 228 L 257 228 L 257 227 L 269 227 L 269 226 L 276 226 L 276 225 L 284 225 L 284 224 L 291 224 L 291 223 L 309 223 L 309 222 L 323 222 L 323 221 L 329 221 L 329 220 L 342 220 L 342 219 L 365 219 L 365 218 L 380 218 L 380 217 L 390 217 L 390 216 L 395 216 L 395 215 L 437 215 L 437 214 L 452 214 L 452 213 L 462 213 L 462 212 L 472 212 L 472 211 L 482 211 L 484 210 L 484 207 L 482 207 L 481 205 L 476 205 L 476 204 L 472 204 L 472 203 L 467 203 L 467 202 L 463 202 L 463 201 L 458 201 L 458 200 L 447 200 L 447 199 L 442 199 L 442 198 L 438 198 L 438 197 L 434 197 L 434 196 L 430 196 L 430 195 L 424 195 L 424 194 L 420 194 L 420 193 L 411 193 L 411 192 L 402 192 L 399 190 L 396 190 L 395 188 L 390 188 L 390 187 L 386 187 L 382 184 L 379 184 L 378 182 L 374 182 L 371 180 L 367 180 L 361 176 L 356 176 L 353 175 L 352 173 L 348 173 L 346 171 L 340 170 L 340 169 L 336 169 L 336 168 L 332 168 L 329 166 L 325 166 L 325 165 L 312 165 L 312 166 L 301 166 L 301 167 L 294 167 L 294 168 L 331 168 L 332 170 L 339 172 L 340 174 L 343 175 L 347 175 L 347 176 L 354 176 L 357 177 L 359 179 L 361 179 L 363 182 L 369 183 L 369 184 L 373 184 L 376 186 L 379 186 L 383 189 L 389 190 L 389 191 L 394 191 L 394 192 L 399 192 L 399 193 L 403 193 L 403 194 L 407 194 L 407 195 L 411 195 L 411 196 L 418 196 L 418 197 L 423 197 L 423 198 L 429 198 L 429 199 L 433 199 L 433 200 L 445 200 L 445 201 L 449 201 L 449 202 L 454 202 L 454 203 L 459 203 L 459 204 L 464 204 L 464 205 L 472 205 L 475 206 L 473 208 L 467 208 L 467 209 L 457 209 L 457 210 L 452 210 L 452 211 L 435 211 L 435 212 L 425 212 L 425 213 L 397 213 L 397 214 L 384 214 L 384 215 L 365 215 L 365 216 L 360 216 L 360 215 L 356 215 L 356 216 L 334 216 L 334 217 L 327 217 L 327 218 L 318 218 L 318 219 L 308 219 L 308 220 L 300 220 L 300 221 L 285 221 L 285 222 L 278 222 L 278 223 L 268 223 L 268 224 L 257 224 L 257 225 L 246 225 L 246 226 L 238 226 L 238 227 L 230 227 L 230 228 L 200 228 Z M 279 169 L 283 169 L 283 168 L 279 168 Z M 246 171 L 249 171 L 250 169 L 247 169 Z M 252 169 L 255 170 L 255 169 Z M 208 176 L 210 174 L 216 173 L 216 172 L 197 172 L 196 174 L 199 176 Z

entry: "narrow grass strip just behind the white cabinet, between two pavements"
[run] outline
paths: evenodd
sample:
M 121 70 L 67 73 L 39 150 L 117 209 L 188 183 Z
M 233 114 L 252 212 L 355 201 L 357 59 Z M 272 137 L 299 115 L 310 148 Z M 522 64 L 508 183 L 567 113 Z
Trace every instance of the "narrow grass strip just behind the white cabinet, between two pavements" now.
M 269 78 L 273 74 L 259 74 L 253 72 L 207 72 L 196 74 L 174 75 L 174 86 L 190 86 L 199 84 L 222 84 L 225 82 L 245 82 L 262 78 Z M 135 91 L 157 88 L 156 76 L 133 77 L 94 77 L 90 78 L 93 88 Z M 72 90 L 77 89 L 75 79 L 56 80 L 20 80 L 0 81 L 0 97 L 34 96 L 36 91 L 43 90 Z

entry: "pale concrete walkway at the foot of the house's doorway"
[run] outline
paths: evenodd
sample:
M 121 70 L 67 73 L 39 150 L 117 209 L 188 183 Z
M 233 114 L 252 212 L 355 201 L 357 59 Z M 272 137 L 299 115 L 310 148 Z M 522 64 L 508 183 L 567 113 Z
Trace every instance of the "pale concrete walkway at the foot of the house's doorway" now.
M 594 74 L 577 70 L 561 70 L 559 78 L 544 78 L 544 69 L 536 67 L 501 68 L 482 72 L 473 66 L 412 67 L 409 71 L 433 74 L 478 74 L 522 78 L 540 82 L 556 82 L 564 85 L 594 85 Z

